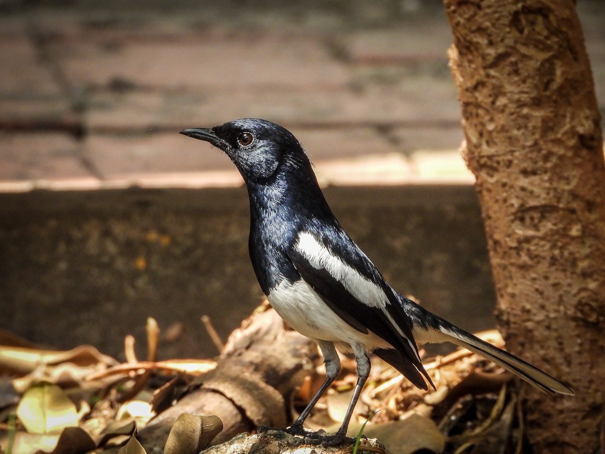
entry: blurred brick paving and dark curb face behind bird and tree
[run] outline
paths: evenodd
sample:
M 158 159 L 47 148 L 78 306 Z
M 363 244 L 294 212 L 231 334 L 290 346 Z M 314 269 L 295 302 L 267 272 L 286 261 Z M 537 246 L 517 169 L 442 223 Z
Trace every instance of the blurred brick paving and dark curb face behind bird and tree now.
M 605 113 L 605 2 L 581 0 Z M 435 0 L 0 0 L 0 328 L 120 357 L 216 350 L 261 300 L 241 179 L 180 136 L 291 130 L 393 286 L 469 331 L 494 295 Z

